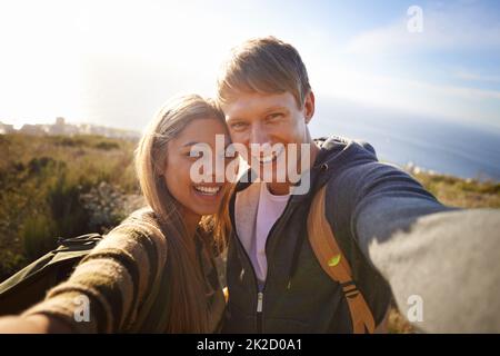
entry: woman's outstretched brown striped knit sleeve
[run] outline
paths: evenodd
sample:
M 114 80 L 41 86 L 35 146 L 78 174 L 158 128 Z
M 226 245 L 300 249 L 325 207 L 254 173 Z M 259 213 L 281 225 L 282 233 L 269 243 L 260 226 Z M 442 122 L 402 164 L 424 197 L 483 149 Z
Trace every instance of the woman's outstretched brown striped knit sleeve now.
M 104 236 L 67 281 L 23 315 L 59 318 L 76 333 L 120 332 L 133 323 L 166 258 L 160 230 L 129 218 Z

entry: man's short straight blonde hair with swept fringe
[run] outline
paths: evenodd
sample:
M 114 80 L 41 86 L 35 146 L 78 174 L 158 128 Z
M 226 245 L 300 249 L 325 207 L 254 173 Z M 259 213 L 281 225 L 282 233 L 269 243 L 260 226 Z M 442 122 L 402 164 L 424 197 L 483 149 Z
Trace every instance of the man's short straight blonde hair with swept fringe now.
M 251 39 L 233 48 L 218 79 L 218 101 L 238 92 L 290 92 L 299 108 L 310 92 L 308 71 L 299 52 L 274 37 Z

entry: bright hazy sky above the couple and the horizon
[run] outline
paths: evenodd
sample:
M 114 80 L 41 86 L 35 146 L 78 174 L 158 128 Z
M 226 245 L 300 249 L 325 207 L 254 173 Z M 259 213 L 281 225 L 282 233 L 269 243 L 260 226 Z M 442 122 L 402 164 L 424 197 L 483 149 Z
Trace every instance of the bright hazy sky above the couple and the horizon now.
M 473 0 L 0 0 L 0 121 L 142 130 L 172 95 L 212 96 L 229 50 L 269 34 L 299 50 L 318 107 L 500 129 L 500 2 Z

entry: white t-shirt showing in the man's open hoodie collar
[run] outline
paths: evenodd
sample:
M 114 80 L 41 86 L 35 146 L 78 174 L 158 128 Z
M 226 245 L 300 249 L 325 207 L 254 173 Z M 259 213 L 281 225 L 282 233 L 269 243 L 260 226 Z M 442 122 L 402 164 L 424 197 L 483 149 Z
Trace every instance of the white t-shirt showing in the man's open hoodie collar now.
M 253 244 L 250 245 L 250 250 L 247 251 L 250 256 L 260 285 L 266 281 L 266 276 L 268 273 L 266 241 L 268 240 L 268 235 L 272 226 L 283 214 L 289 198 L 290 195 L 272 195 L 268 189 L 268 185 L 261 184 L 254 229 L 256 236 L 253 236 Z

